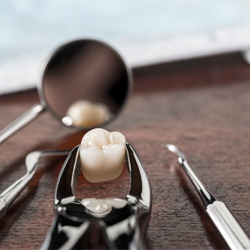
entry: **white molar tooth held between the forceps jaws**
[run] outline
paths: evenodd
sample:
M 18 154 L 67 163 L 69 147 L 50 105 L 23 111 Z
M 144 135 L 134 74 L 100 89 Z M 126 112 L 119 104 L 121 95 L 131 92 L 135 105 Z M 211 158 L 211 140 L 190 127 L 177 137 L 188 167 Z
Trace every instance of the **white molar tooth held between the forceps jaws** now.
M 116 179 L 123 170 L 125 142 L 121 133 L 101 128 L 85 134 L 80 146 L 85 178 L 94 183 Z

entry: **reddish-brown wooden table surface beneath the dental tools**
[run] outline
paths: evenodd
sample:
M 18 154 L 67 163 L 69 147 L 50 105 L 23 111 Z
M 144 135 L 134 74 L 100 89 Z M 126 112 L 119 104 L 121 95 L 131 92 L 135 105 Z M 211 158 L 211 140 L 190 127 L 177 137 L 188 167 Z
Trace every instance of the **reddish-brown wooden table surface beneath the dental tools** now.
M 250 66 L 239 54 L 134 70 L 134 91 L 121 115 L 107 126 L 122 132 L 148 172 L 153 210 L 145 239 L 149 249 L 227 249 L 206 216 L 177 158 L 179 146 L 210 191 L 224 201 L 250 235 Z M 37 103 L 36 91 L 0 97 L 0 128 Z M 0 147 L 0 192 L 25 173 L 34 150 L 73 148 L 84 133 L 63 127 L 44 112 Z M 35 177 L 0 221 L 0 249 L 37 249 L 53 220 L 53 195 L 63 157 L 44 157 Z M 78 195 L 123 197 L 119 179 L 89 184 Z

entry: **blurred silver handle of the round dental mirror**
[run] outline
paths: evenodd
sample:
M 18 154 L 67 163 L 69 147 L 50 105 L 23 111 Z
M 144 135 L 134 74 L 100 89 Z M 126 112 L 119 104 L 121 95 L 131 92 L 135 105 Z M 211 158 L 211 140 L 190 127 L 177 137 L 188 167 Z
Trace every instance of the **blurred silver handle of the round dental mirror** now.
M 42 111 L 44 107 L 38 103 L 19 116 L 15 121 L 0 131 L 0 144 L 16 133 L 19 129 L 33 121 Z

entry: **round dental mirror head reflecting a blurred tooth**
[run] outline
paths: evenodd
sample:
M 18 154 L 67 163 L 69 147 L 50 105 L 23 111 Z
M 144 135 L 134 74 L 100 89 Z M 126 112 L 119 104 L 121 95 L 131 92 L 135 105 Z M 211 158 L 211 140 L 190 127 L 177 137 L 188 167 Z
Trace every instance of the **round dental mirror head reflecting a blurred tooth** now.
M 41 101 L 67 126 L 100 127 L 124 106 L 131 78 L 122 57 L 109 45 L 76 40 L 61 46 L 48 61 Z

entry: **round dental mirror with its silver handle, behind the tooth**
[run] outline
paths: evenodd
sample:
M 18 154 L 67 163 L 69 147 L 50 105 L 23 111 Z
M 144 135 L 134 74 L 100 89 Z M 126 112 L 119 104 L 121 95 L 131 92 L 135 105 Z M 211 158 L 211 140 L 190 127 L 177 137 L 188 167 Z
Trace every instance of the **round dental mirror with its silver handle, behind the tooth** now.
M 104 126 L 124 107 L 132 81 L 131 69 L 110 45 L 95 39 L 68 42 L 55 50 L 44 65 L 37 87 L 40 103 L 0 130 L 0 144 L 45 110 L 67 127 L 87 131 Z M 110 110 L 110 115 L 95 125 L 76 124 L 67 111 L 79 100 L 101 103 Z M 92 113 L 91 117 L 98 115 Z

